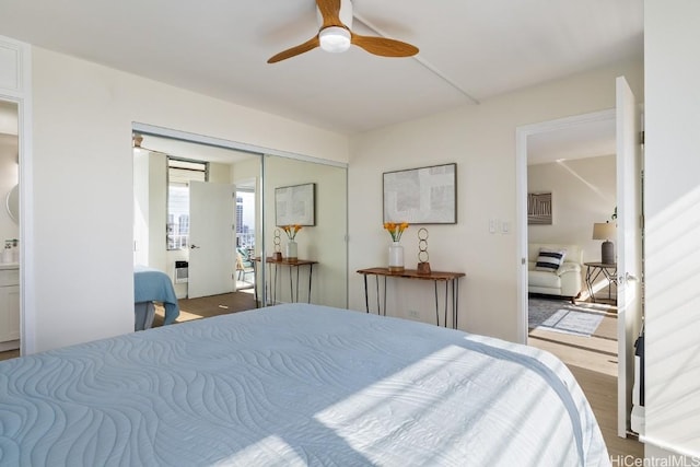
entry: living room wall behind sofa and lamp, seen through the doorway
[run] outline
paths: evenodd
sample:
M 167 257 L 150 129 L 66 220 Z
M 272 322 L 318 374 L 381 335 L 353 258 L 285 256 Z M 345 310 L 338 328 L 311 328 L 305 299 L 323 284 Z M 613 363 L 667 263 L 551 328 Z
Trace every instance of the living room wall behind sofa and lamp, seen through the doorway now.
M 593 224 L 615 222 L 616 187 L 615 155 L 529 165 L 527 190 L 552 194 L 552 224 L 528 225 L 528 242 L 579 245 L 584 261 L 599 261 L 603 241 L 592 238 Z M 599 282 L 595 290 L 607 297 L 607 281 Z

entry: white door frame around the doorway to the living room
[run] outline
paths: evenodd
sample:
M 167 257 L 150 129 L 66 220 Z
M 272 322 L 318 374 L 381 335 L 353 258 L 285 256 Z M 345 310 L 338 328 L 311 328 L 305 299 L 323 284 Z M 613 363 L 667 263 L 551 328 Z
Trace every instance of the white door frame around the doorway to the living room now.
M 598 121 L 616 121 L 615 108 L 574 115 L 515 129 L 515 198 L 517 232 L 517 338 L 527 345 L 527 137 L 547 131 L 576 127 L 582 124 Z

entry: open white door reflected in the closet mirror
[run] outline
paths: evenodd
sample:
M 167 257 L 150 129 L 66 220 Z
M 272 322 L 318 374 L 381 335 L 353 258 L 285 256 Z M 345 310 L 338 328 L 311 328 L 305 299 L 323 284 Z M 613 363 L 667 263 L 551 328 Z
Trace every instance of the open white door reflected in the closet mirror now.
M 234 185 L 189 183 L 187 297 L 235 292 Z

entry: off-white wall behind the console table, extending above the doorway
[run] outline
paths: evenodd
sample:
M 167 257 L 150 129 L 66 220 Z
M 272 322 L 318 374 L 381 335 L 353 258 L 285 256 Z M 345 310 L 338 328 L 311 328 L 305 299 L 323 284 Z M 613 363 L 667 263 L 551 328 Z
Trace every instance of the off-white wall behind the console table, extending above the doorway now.
M 615 107 L 615 78 L 625 74 L 642 94 L 642 63 L 605 67 L 533 86 L 480 105 L 371 131 L 351 139 L 350 307 L 364 310 L 358 269 L 386 266 L 388 235 L 382 230 L 382 173 L 457 163 L 456 225 L 429 225 L 433 270 L 463 271 L 459 327 L 517 340 L 517 235 L 515 230 L 515 128 Z M 489 219 L 509 233 L 489 233 Z M 416 226 L 404 234 L 407 266 L 417 262 Z M 415 267 L 415 266 L 413 266 Z M 389 312 L 434 323 L 431 283 L 394 281 Z

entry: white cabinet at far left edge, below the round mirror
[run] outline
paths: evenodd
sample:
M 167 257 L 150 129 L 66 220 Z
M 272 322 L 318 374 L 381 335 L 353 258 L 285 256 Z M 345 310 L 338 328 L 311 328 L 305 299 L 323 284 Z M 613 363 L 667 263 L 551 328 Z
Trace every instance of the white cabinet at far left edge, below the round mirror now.
M 20 347 L 20 268 L 0 265 L 0 351 Z

